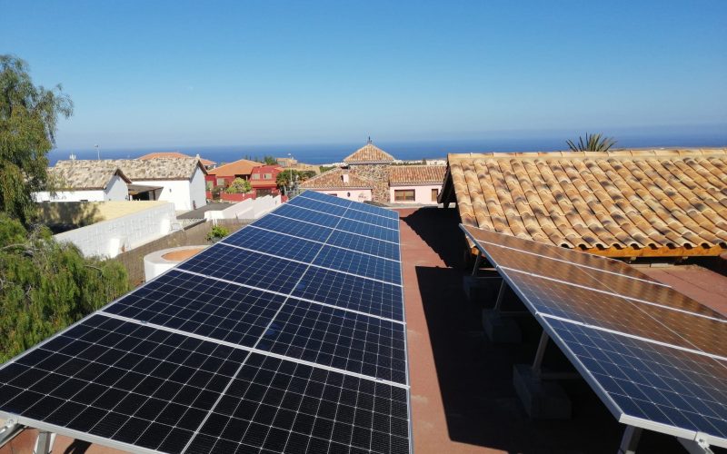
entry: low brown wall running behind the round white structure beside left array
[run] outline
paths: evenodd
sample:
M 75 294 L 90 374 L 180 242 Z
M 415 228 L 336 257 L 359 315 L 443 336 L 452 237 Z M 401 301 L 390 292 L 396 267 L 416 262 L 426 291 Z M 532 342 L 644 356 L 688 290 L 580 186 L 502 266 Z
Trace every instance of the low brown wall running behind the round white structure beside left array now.
M 217 224 L 224 226 L 230 233 L 242 229 L 249 222 L 240 222 L 236 220 L 218 221 Z M 172 232 L 154 242 L 147 242 L 129 252 L 124 252 L 116 256 L 116 260 L 121 262 L 126 269 L 129 277 L 129 283 L 132 287 L 136 287 L 144 283 L 144 256 L 152 252 L 161 251 L 162 249 L 174 248 L 177 246 L 193 246 L 195 244 L 209 244 L 204 238 L 207 232 L 212 229 L 212 222 L 201 222 L 188 227 L 185 230 Z

